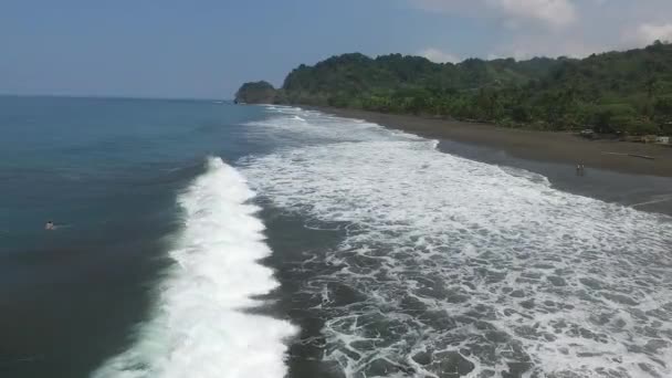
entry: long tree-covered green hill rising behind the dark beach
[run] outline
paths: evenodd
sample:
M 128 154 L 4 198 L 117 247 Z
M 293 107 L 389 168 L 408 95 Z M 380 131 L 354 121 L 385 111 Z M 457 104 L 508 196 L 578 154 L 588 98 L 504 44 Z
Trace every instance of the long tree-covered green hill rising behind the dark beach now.
M 432 63 L 354 53 L 301 65 L 275 103 L 473 119 L 549 130 L 672 134 L 672 45 L 582 60 Z

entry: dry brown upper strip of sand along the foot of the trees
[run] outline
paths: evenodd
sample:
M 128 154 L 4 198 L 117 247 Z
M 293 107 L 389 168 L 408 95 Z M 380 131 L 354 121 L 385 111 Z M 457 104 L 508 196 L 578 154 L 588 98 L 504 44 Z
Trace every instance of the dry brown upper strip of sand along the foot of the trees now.
M 672 147 L 611 140 L 588 140 L 569 133 L 537 132 L 421 116 L 358 109 L 314 107 L 346 118 L 359 118 L 428 138 L 501 149 L 514 157 L 598 168 L 631 175 L 672 177 Z M 653 160 L 632 155 L 654 157 Z

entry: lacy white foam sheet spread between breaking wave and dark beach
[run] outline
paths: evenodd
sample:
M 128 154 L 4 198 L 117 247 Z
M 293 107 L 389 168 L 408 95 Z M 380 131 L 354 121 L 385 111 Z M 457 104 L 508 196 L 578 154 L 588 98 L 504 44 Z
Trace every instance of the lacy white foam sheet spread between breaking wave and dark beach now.
M 301 116 L 264 125 L 328 143 L 241 164 L 275 206 L 354 225 L 323 256 L 335 272 L 305 286 L 327 314 L 325 358 L 346 376 L 366 375 L 376 359 L 437 376 L 440 366 L 411 357 L 466 348 L 479 350 L 464 356 L 474 377 L 500 377 L 513 361 L 538 377 L 672 377 L 669 217 L 561 192 L 539 175 L 439 153 L 432 140 Z M 335 282 L 364 300 L 329 308 Z M 402 298 L 459 321 L 419 318 Z M 372 337 L 374 324 L 392 330 Z M 491 332 L 504 336 L 486 339 Z

